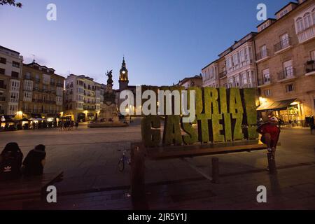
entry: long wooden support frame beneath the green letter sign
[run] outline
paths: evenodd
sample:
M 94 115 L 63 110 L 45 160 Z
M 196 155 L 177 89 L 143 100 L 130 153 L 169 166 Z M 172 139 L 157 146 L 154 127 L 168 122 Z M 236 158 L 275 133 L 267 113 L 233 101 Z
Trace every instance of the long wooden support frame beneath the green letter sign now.
M 145 189 L 145 160 L 167 160 L 202 155 L 218 155 L 244 151 L 265 150 L 267 146 L 258 140 L 234 141 L 218 144 L 193 144 L 185 146 L 160 146 L 146 148 L 141 142 L 131 144 L 131 196 L 134 209 L 148 209 Z M 269 172 L 276 172 L 275 161 L 267 153 Z M 212 158 L 212 182 L 218 183 L 218 158 Z

